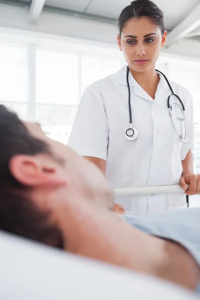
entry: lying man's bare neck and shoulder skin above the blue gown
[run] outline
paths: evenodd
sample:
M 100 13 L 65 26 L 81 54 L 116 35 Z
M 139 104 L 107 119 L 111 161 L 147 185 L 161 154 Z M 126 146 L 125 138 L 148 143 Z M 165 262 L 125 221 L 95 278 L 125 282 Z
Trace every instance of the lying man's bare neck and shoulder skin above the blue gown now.
M 194 289 L 199 269 L 181 246 L 147 235 L 90 202 L 61 210 L 66 250 Z

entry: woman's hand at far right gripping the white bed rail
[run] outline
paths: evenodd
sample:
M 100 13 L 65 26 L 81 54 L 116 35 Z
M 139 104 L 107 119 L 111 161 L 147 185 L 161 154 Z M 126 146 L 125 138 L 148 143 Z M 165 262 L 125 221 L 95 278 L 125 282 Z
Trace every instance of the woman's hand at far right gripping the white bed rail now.
M 189 189 L 187 189 L 189 184 Z M 195 195 L 200 193 L 200 175 L 190 174 L 180 177 L 179 185 L 185 190 L 186 195 Z

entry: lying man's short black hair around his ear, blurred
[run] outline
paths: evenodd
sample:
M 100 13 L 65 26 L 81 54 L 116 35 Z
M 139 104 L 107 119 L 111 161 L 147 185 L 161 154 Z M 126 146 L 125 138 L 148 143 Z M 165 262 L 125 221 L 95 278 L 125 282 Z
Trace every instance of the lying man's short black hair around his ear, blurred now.
M 11 175 L 8 163 L 15 154 L 50 153 L 45 142 L 31 136 L 17 115 L 0 105 L 0 229 L 63 248 L 62 234 L 26 196 L 29 188 Z

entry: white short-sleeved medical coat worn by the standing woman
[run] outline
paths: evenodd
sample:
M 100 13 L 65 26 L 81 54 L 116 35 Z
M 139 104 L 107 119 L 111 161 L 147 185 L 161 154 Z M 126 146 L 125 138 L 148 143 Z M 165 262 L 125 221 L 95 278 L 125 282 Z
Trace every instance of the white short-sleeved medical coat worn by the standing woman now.
M 177 139 L 167 108 L 170 89 L 161 74 L 153 100 L 129 72 L 132 124 L 138 130 L 135 140 L 125 138 L 129 126 L 126 66 L 84 90 L 68 145 L 82 156 L 105 159 L 106 177 L 113 188 L 178 184 L 181 160 L 193 145 L 193 109 L 187 89 L 169 82 L 185 106 L 189 144 Z M 179 131 L 177 117 L 182 114 L 174 106 L 173 119 Z M 115 201 L 134 215 L 186 208 L 183 192 L 118 196 Z

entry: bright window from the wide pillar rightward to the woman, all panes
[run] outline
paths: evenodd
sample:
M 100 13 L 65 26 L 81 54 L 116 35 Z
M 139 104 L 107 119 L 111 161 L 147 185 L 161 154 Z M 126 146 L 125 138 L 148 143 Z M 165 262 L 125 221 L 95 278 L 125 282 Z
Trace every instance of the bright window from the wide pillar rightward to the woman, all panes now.
M 35 115 L 48 136 L 66 144 L 83 89 L 121 66 L 117 59 L 37 49 Z

